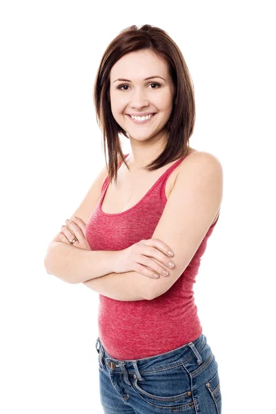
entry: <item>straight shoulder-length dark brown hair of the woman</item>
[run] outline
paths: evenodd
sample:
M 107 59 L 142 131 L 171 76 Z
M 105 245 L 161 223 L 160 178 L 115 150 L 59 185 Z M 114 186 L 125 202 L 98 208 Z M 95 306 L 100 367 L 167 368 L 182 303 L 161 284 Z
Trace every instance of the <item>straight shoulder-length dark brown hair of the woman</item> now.
M 119 134 L 127 137 L 126 131 L 119 126 L 112 115 L 110 104 L 110 70 L 124 55 L 138 50 L 149 50 L 168 63 L 172 81 L 175 84 L 175 98 L 168 119 L 168 142 L 163 152 L 144 167 L 152 171 L 188 153 L 189 138 L 195 125 L 195 94 L 190 72 L 177 44 L 168 34 L 155 26 L 146 24 L 137 28 L 130 26 L 122 30 L 111 41 L 103 53 L 94 84 L 94 104 L 97 123 L 103 132 L 103 148 L 106 158 L 108 147 L 108 176 L 117 182 L 118 161 L 124 160 Z M 187 152 L 185 154 L 185 149 Z M 107 166 L 107 163 L 106 163 Z M 127 168 L 128 165 L 126 164 Z

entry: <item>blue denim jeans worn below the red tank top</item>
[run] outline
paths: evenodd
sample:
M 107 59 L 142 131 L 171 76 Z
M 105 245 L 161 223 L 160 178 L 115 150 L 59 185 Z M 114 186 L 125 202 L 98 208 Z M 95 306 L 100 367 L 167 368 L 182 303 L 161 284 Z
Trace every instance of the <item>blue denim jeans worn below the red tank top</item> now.
M 218 364 L 201 335 L 153 357 L 119 361 L 99 338 L 99 389 L 105 414 L 221 414 Z

